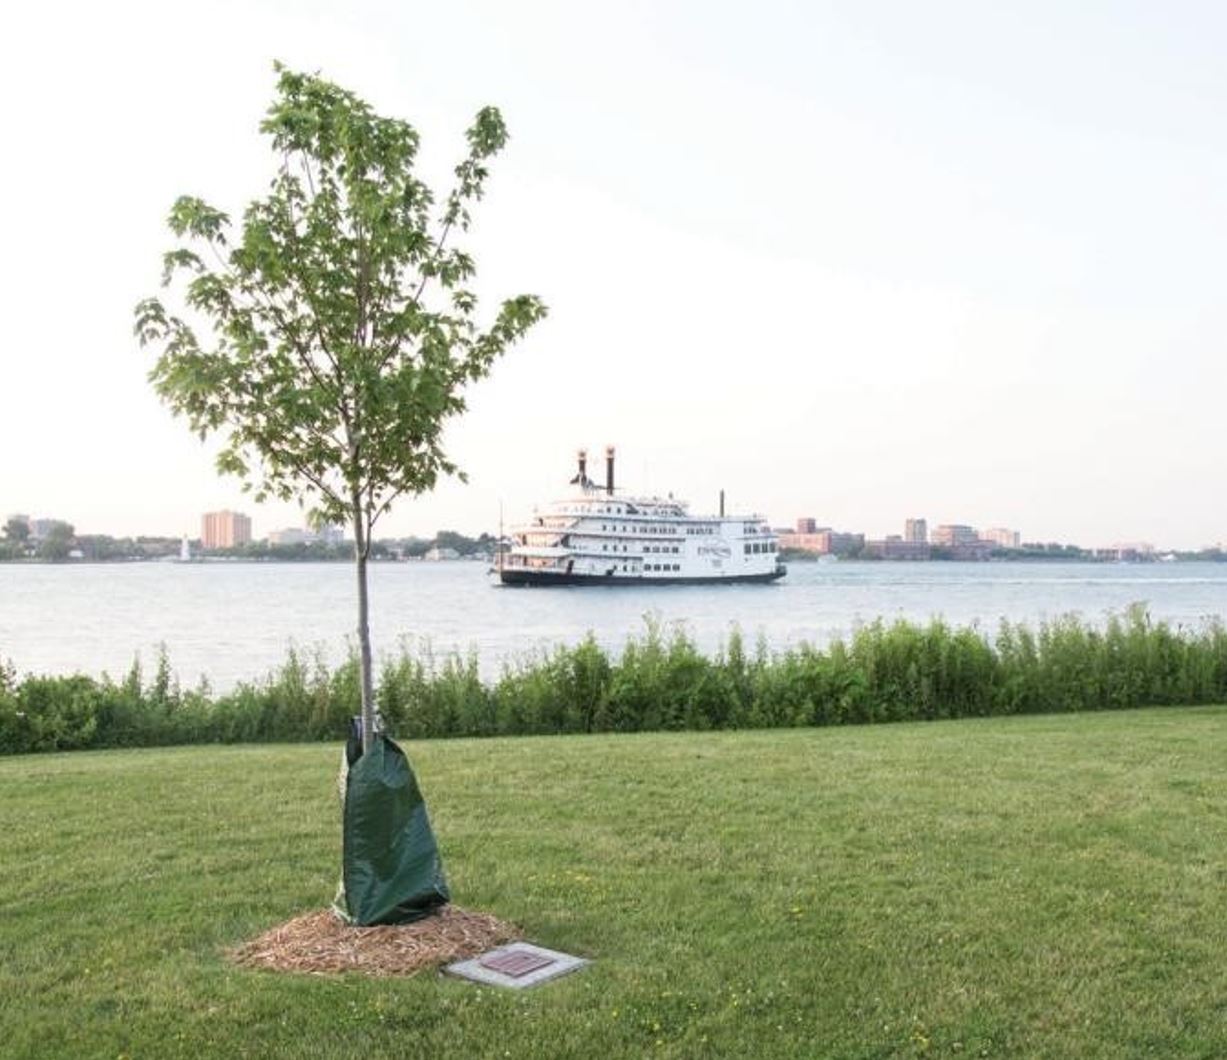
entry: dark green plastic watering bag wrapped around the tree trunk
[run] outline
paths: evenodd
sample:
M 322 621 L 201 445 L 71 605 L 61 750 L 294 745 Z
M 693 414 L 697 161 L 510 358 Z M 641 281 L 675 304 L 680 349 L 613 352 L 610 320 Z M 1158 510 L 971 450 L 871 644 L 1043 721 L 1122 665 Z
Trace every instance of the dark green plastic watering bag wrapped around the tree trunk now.
M 406 924 L 450 901 L 426 801 L 409 758 L 383 732 L 371 751 L 351 734 L 341 834 L 341 889 L 348 923 Z

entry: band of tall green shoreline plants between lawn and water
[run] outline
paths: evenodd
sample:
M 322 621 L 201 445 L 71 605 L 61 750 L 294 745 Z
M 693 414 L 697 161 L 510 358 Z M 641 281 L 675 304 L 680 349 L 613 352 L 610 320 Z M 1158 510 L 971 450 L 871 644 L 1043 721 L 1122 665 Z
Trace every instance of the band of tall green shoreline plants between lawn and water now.
M 747 648 L 734 631 L 704 655 L 648 618 L 620 653 L 589 634 L 483 681 L 475 651 L 402 647 L 375 701 L 402 739 L 773 729 L 1227 702 L 1227 628 L 1156 622 L 1142 605 L 1103 627 L 1066 616 L 988 633 L 881 620 L 818 649 Z M 107 675 L 18 676 L 0 662 L 0 753 L 187 743 L 341 740 L 360 709 L 356 654 L 329 666 L 291 649 L 231 692 L 183 688 L 162 650 Z

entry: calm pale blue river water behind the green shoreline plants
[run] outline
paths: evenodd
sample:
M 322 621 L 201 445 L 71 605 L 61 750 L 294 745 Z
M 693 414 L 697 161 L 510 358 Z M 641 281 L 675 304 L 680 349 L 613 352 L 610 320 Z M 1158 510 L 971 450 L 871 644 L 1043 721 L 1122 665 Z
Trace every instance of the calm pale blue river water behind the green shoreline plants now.
M 591 629 L 610 647 L 643 617 L 683 622 L 707 650 L 736 623 L 772 645 L 826 643 L 885 616 L 995 626 L 1066 612 L 1102 621 L 1145 601 L 1194 623 L 1227 615 L 1227 564 L 794 563 L 774 585 L 503 589 L 485 563 L 389 563 L 371 573 L 377 650 L 422 638 L 499 660 Z M 288 645 L 345 650 L 355 618 L 348 564 L 147 563 L 0 566 L 0 658 L 20 671 L 119 674 L 158 643 L 185 682 L 213 687 L 265 672 Z

